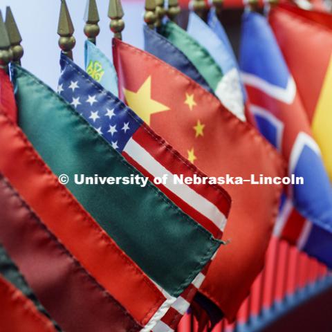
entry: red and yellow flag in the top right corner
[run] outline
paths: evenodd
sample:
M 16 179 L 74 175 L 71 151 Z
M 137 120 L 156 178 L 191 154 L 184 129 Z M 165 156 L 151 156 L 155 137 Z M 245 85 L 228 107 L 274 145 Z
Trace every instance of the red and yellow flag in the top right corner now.
M 294 76 L 313 138 L 332 181 L 332 19 L 287 4 L 271 10 L 270 24 Z M 310 38 L 308 36 L 315 36 Z M 304 42 L 305 41 L 305 42 Z

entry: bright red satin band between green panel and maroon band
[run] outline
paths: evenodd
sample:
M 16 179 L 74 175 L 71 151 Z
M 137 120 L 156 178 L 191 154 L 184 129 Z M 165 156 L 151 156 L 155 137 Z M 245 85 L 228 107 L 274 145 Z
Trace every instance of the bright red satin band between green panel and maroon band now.
M 24 133 L 0 111 L 0 172 L 44 224 L 140 324 L 165 298 L 116 243 L 60 185 Z

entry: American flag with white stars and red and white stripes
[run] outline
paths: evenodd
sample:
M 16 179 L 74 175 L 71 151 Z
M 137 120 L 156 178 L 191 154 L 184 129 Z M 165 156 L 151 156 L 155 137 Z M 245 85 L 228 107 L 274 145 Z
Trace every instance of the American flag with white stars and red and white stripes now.
M 167 174 L 205 177 L 188 160 L 170 147 L 129 107 L 106 91 L 66 55 L 61 55 L 62 75 L 58 93 L 69 102 L 81 116 L 118 150 L 131 165 L 151 181 Z M 230 209 L 228 194 L 217 185 L 174 185 L 172 181 L 156 185 L 184 212 L 200 223 L 213 237 L 221 239 Z M 177 299 L 171 299 L 171 308 L 156 324 L 153 331 L 174 331 L 178 322 L 203 283 L 208 266 L 197 275 L 192 284 Z M 156 317 L 155 317 L 156 318 Z M 172 322 L 172 324 L 171 324 Z M 153 323 L 153 324 L 152 324 Z

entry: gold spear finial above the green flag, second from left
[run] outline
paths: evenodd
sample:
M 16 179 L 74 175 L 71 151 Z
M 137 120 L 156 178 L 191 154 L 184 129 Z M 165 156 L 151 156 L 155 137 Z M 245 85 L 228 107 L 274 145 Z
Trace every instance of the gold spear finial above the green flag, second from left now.
M 5 25 L 10 41 L 10 49 L 12 50 L 12 61 L 15 64 L 21 64 L 21 58 L 24 55 L 24 49 L 21 46 L 22 38 L 9 6 L 6 8 Z

